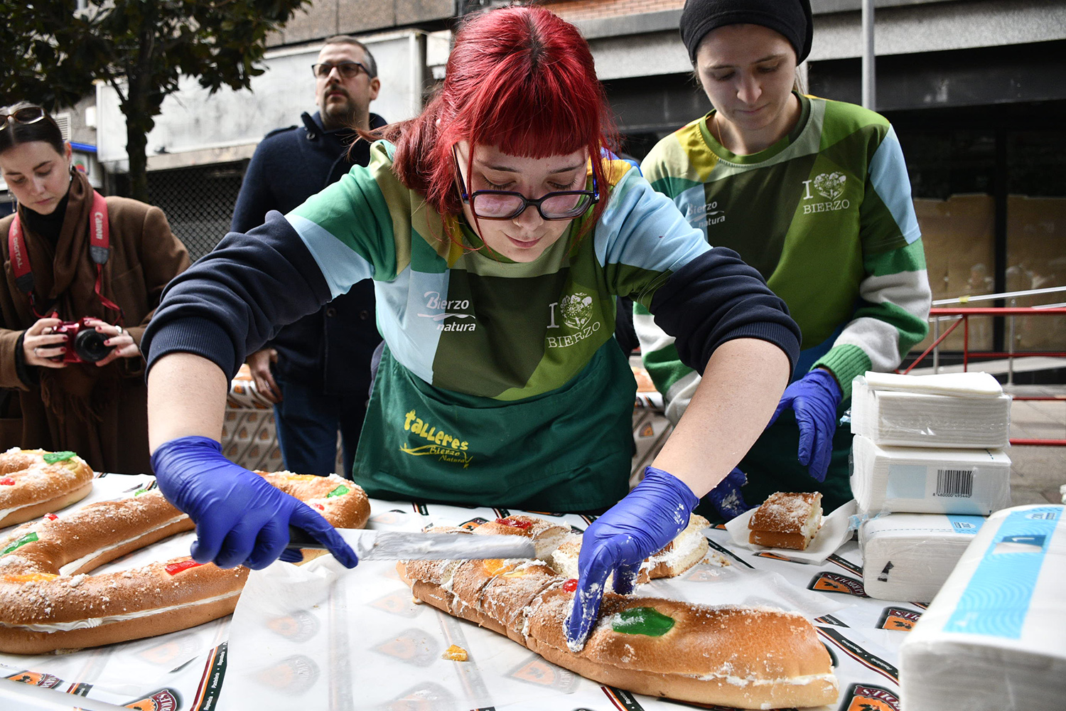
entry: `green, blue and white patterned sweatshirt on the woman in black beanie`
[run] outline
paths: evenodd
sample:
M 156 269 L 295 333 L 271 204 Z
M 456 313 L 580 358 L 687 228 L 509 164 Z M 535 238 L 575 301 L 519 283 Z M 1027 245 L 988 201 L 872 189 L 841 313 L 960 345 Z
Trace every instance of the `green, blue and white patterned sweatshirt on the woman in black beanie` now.
M 793 378 L 815 366 L 844 395 L 855 375 L 895 368 L 927 332 L 931 292 L 899 140 L 879 114 L 800 97 L 796 128 L 752 156 L 725 149 L 713 111 L 659 142 L 642 169 L 715 247 L 738 252 L 789 307 L 803 342 Z M 646 365 L 672 403 L 698 375 L 637 305 Z

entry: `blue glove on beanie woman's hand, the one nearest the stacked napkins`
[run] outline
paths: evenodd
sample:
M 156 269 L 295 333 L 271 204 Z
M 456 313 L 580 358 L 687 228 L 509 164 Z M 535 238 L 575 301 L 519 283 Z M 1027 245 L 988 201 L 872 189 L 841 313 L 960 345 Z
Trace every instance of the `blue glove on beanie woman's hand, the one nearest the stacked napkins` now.
M 770 424 L 786 407 L 791 407 L 800 425 L 800 464 L 807 466 L 810 475 L 825 481 L 833 456 L 833 435 L 837 432 L 837 406 L 844 393 L 837 378 L 827 370 L 815 368 L 785 388 Z

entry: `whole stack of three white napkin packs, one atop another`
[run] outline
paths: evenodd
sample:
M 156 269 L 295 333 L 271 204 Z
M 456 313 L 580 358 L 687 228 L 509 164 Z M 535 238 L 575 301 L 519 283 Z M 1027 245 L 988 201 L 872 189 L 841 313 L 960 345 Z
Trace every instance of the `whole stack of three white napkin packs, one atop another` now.
M 852 492 L 869 595 L 927 602 L 982 516 L 1011 505 L 1011 398 L 988 373 L 853 384 Z

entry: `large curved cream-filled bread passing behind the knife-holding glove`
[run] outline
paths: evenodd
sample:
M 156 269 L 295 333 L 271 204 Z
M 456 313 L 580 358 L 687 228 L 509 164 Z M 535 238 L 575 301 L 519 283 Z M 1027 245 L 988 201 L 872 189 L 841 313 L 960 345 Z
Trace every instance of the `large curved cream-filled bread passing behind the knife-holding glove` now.
M 257 473 L 336 527 L 362 528 L 370 517 L 366 494 L 351 481 Z M 247 578 L 243 566 L 223 569 L 182 556 L 86 575 L 193 528 L 158 489 L 16 528 L 0 538 L 0 651 L 93 647 L 173 632 L 231 613 Z

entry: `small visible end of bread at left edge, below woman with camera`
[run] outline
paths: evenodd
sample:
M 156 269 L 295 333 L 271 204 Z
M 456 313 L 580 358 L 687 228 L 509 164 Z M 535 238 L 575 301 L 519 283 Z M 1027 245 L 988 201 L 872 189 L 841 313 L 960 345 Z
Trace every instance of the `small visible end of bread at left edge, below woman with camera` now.
M 45 450 L 17 447 L 0 454 L 0 528 L 33 520 L 84 499 L 93 468 L 77 454 L 48 463 Z

